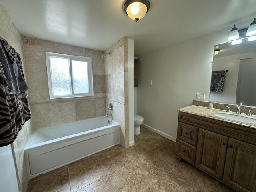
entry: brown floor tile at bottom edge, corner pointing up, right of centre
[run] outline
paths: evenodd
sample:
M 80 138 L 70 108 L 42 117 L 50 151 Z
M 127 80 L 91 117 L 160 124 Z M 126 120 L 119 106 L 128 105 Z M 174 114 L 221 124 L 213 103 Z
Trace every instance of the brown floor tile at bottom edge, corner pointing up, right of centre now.
M 202 190 L 176 170 L 171 170 L 145 192 L 202 192 Z

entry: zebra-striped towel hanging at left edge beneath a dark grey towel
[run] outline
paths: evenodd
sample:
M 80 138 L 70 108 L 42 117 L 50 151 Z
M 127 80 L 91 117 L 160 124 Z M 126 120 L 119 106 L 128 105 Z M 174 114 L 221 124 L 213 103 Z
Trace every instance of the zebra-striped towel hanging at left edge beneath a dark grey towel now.
M 12 53 L 16 54 L 16 61 L 24 79 L 20 54 L 8 43 L 5 44 L 4 39 L 0 38 L 0 40 L 4 44 L 6 54 L 8 53 L 6 56 L 11 58 L 13 57 Z M 4 41 L 6 42 L 6 40 Z M 0 147 L 14 142 L 24 123 L 31 118 L 27 92 L 10 94 L 2 66 L 4 64 L 0 62 Z

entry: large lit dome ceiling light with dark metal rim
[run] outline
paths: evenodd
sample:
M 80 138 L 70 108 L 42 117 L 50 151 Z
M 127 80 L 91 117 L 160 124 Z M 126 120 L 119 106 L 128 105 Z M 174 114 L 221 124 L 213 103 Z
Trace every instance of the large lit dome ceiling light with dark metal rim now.
M 127 0 L 124 3 L 124 11 L 132 20 L 136 22 L 142 19 L 150 8 L 148 0 Z

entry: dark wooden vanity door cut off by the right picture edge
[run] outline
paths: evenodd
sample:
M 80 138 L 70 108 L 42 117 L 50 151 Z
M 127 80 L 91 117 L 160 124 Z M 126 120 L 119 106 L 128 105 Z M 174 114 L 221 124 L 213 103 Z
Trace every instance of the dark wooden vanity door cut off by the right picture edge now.
M 223 182 L 241 192 L 256 192 L 256 146 L 228 141 Z

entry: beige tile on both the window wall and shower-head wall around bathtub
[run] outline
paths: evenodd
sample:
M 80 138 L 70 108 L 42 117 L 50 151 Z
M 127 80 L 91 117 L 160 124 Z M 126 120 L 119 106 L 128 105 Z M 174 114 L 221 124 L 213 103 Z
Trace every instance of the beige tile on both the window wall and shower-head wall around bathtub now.
M 113 118 L 120 123 L 120 141 L 128 147 L 128 38 L 113 44 L 107 52 L 23 36 L 28 97 L 34 129 L 104 116 L 110 102 Z M 45 52 L 92 58 L 94 96 L 50 99 Z M 127 87 L 127 88 L 126 88 Z

